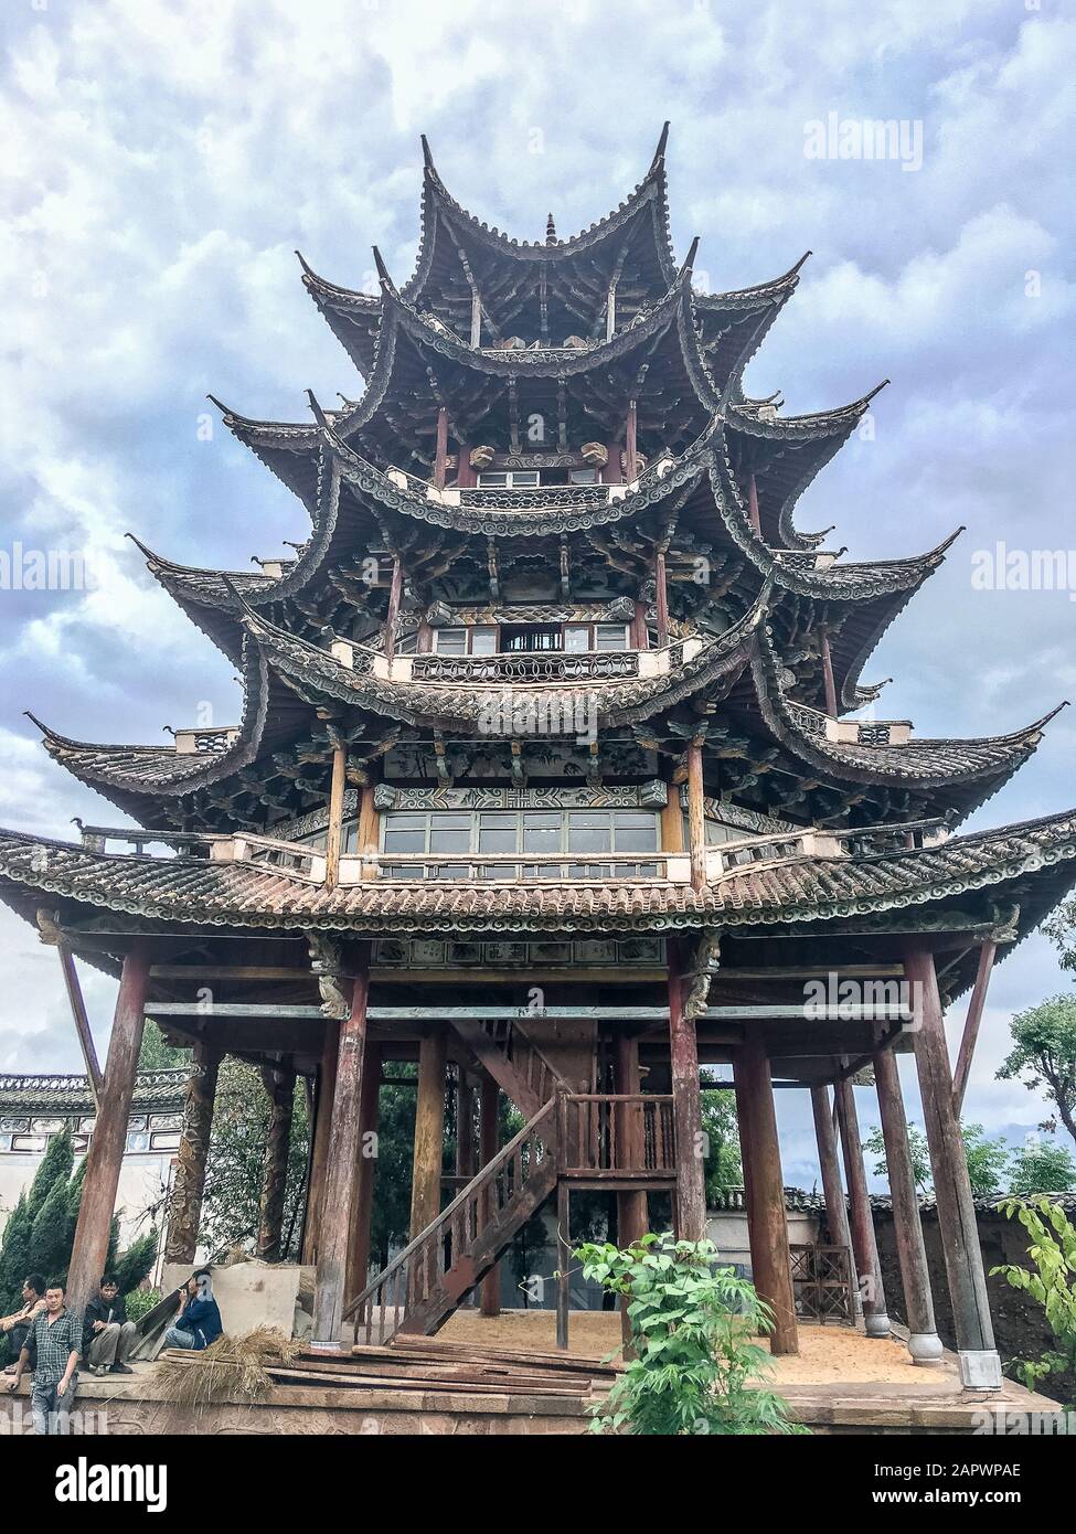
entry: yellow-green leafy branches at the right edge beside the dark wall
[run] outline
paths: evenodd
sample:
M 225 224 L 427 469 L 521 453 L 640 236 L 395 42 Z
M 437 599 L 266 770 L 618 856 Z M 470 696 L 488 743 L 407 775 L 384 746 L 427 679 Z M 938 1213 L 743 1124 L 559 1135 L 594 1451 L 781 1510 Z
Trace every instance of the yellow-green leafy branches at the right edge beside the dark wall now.
M 1050 1374 L 1076 1374 L 1076 1229 L 1059 1204 L 1045 1195 L 1005 1198 L 998 1209 L 1013 1215 L 1031 1238 L 1027 1255 L 1035 1270 L 1015 1262 L 992 1269 L 1002 1273 L 1013 1289 L 1022 1289 L 1042 1305 L 1056 1347 L 1035 1362 L 1015 1359 L 1012 1367 L 1021 1384 L 1033 1390 Z

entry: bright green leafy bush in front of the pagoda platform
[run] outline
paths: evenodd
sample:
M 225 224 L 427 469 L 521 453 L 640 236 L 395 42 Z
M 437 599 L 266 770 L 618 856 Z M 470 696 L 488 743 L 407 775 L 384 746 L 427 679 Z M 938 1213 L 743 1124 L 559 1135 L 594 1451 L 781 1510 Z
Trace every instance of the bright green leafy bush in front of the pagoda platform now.
M 620 1250 L 585 1243 L 583 1276 L 626 1295 L 634 1358 L 605 1402 L 594 1433 L 740 1436 L 800 1433 L 763 1384 L 769 1353 L 752 1341 L 772 1312 L 748 1279 L 720 1267 L 712 1241 L 646 1235 Z

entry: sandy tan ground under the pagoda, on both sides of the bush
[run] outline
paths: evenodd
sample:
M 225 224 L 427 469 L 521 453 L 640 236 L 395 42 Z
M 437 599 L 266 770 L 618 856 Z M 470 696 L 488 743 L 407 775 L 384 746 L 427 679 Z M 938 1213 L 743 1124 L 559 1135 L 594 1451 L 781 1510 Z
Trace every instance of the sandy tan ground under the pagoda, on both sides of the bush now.
M 557 1321 L 551 1310 L 502 1310 L 480 1316 L 457 1310 L 439 1333 L 445 1342 L 473 1342 L 487 1347 L 533 1348 L 551 1353 L 557 1345 Z M 568 1322 L 568 1350 L 580 1358 L 605 1358 L 620 1345 L 620 1316 L 609 1310 L 573 1310 Z M 850 1327 L 800 1327 L 800 1353 L 774 1359 L 774 1382 L 786 1385 L 823 1384 L 941 1384 L 953 1374 L 946 1359 L 938 1368 L 916 1368 L 907 1347 L 896 1338 L 873 1339 Z

